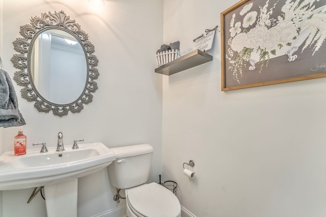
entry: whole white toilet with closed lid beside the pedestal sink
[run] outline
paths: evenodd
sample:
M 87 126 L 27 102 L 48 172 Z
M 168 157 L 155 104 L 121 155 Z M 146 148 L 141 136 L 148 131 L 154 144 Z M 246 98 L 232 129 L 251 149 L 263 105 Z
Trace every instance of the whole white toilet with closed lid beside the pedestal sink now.
M 153 147 L 149 144 L 110 148 L 117 159 L 108 166 L 111 183 L 125 189 L 128 217 L 180 217 L 177 197 L 166 187 L 148 180 Z

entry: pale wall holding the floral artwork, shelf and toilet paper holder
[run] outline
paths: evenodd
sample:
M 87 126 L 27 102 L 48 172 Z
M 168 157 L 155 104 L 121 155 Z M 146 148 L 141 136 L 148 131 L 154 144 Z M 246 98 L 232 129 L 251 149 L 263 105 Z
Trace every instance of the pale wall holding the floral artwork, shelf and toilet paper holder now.
M 236 2 L 165 0 L 164 42 L 191 51 Z M 222 92 L 216 34 L 212 62 L 164 76 L 162 177 L 198 217 L 325 216 L 326 78 Z

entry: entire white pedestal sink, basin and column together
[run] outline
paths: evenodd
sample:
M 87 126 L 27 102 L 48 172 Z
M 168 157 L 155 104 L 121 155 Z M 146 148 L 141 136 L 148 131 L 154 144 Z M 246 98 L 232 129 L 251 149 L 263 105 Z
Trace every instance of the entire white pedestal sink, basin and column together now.
M 19 156 L 5 152 L 0 156 L 0 191 L 44 186 L 48 217 L 76 216 L 77 179 L 107 167 L 116 159 L 115 153 L 103 143 L 78 146 L 78 149 L 66 147 L 62 152 L 50 147 L 47 153 L 28 149 Z

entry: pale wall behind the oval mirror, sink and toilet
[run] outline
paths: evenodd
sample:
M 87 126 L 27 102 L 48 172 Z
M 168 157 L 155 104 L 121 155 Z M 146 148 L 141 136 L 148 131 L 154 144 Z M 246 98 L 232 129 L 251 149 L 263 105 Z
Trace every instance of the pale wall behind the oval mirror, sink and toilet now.
M 162 78 L 154 73 L 154 68 L 155 51 L 163 35 L 162 1 L 106 0 L 104 8 L 94 8 L 87 0 L 5 0 L 2 8 L 0 52 L 11 77 L 16 71 L 10 62 L 16 53 L 12 42 L 21 37 L 19 26 L 48 11 L 64 10 L 75 19 L 89 34 L 99 59 L 98 90 L 93 94 L 93 102 L 79 114 L 69 113 L 60 118 L 38 113 L 33 103 L 20 97 L 20 87 L 15 86 L 19 108 L 27 123 L 22 129 L 28 148 L 40 142 L 56 146 L 59 131 L 64 134 L 66 148 L 75 139 L 85 139 L 86 143 L 100 141 L 108 147 L 150 143 L 155 149 L 150 180 L 157 181 L 161 172 Z M 3 152 L 13 150 L 12 141 L 18 129 L 0 129 Z M 78 216 L 89 217 L 118 207 L 106 170 L 80 179 L 78 190 Z M 45 205 L 39 195 L 26 204 L 31 192 L 32 189 L 3 192 L 0 216 L 44 217 Z

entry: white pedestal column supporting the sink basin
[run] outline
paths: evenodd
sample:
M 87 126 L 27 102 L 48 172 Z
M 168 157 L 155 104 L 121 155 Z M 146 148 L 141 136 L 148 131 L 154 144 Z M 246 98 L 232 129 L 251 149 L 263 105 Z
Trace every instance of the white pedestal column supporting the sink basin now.
M 48 217 L 77 217 L 78 179 L 44 186 Z

